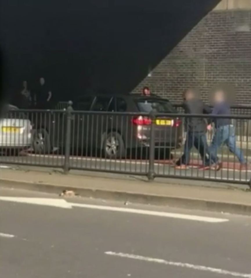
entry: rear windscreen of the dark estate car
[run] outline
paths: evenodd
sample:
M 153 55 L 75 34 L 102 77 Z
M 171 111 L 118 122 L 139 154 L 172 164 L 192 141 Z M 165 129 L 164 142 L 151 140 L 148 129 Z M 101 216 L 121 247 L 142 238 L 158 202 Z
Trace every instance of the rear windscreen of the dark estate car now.
M 177 112 L 169 101 L 163 99 L 138 99 L 136 102 L 140 112 L 149 113 L 153 108 L 155 108 L 158 113 Z

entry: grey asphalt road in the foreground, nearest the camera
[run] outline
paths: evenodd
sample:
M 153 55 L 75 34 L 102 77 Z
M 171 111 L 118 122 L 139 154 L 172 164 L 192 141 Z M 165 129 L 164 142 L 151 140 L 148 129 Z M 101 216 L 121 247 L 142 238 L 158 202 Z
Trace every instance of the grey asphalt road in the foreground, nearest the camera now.
M 251 217 L 78 197 L 66 203 L 25 190 L 0 193 L 75 203 L 62 208 L 1 200 L 1 277 L 251 277 Z

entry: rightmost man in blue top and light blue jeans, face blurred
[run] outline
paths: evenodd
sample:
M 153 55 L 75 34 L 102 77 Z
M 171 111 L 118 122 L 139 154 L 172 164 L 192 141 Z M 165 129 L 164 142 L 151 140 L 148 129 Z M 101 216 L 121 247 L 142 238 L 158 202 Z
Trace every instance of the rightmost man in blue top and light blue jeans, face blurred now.
M 212 115 L 230 115 L 230 105 L 227 101 L 227 92 L 222 88 L 218 88 L 213 93 L 214 107 L 212 110 Z M 239 159 L 241 163 L 241 169 L 246 169 L 247 161 L 244 158 L 243 152 L 241 149 L 236 146 L 235 138 L 235 128 L 231 124 L 231 120 L 227 118 L 215 118 L 215 133 L 212 139 L 212 143 L 209 147 L 210 157 L 212 161 L 219 165 L 219 159 L 217 158 L 217 150 L 226 145 L 230 152 L 232 152 Z M 211 129 L 211 125 L 208 126 L 208 129 Z M 209 168 L 208 166 L 205 168 Z

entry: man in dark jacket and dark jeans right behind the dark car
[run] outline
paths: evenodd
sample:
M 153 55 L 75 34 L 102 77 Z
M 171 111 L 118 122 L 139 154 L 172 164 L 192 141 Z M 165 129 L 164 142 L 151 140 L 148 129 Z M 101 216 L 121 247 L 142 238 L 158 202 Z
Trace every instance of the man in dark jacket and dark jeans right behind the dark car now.
M 211 108 L 203 103 L 196 89 L 188 89 L 183 94 L 185 114 L 210 114 Z M 186 117 L 185 130 L 187 138 L 182 157 L 176 162 L 177 169 L 187 169 L 190 162 L 190 152 L 194 146 L 201 155 L 203 166 L 209 166 L 209 150 L 207 145 L 207 120 L 201 117 Z

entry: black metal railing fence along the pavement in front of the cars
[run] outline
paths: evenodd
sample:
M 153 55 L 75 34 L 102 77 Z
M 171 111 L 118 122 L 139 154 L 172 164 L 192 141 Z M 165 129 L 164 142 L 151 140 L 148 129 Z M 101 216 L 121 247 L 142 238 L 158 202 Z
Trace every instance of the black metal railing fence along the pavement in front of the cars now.
M 234 133 L 240 132 L 241 141 L 234 142 L 232 152 L 218 146 L 220 169 L 211 161 L 212 150 L 207 148 L 212 140 L 207 134 L 212 132 L 198 129 L 206 128 L 208 117 L 154 111 L 74 111 L 71 105 L 66 110 L 10 111 L 0 120 L 0 163 L 59 167 L 65 173 L 79 169 L 145 175 L 149 179 L 171 177 L 251 185 L 250 166 L 243 167 L 236 157 L 240 149 L 245 161 L 251 160 L 248 129 L 238 128 L 239 122 L 250 126 L 251 115 L 210 116 L 214 121 L 230 121 L 225 129 L 226 143 L 230 137 L 237 141 Z M 189 131 L 186 137 L 185 130 Z M 190 144 L 199 151 L 187 152 L 191 155 L 183 163 L 184 169 L 180 168 L 176 160 Z M 209 167 L 204 168 L 208 161 Z

